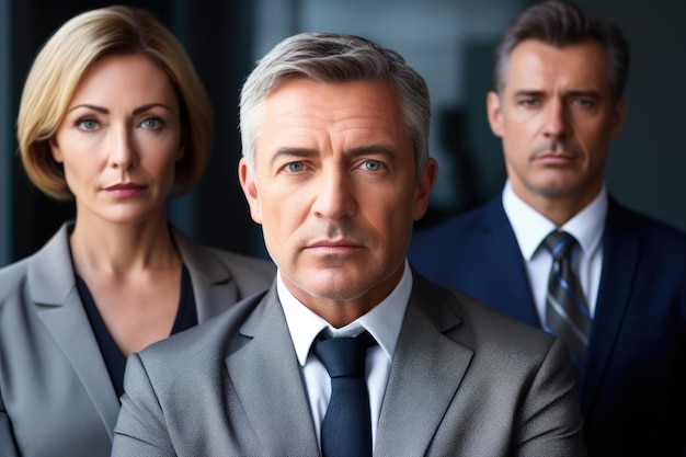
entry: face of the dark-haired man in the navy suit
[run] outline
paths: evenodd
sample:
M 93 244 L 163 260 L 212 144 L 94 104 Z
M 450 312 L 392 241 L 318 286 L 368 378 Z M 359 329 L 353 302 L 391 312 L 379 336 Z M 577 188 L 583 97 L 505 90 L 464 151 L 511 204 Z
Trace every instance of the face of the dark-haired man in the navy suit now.
M 624 99 L 613 103 L 608 65 L 595 42 L 557 48 L 528 39 L 510 55 L 488 115 L 513 188 L 529 204 L 571 197 L 583 207 L 601 191 L 626 106 Z

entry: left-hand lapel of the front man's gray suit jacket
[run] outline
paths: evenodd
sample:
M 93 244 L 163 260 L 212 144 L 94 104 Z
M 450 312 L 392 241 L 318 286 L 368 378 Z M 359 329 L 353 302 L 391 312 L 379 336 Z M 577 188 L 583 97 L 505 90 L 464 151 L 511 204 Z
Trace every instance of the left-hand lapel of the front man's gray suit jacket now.
M 275 286 L 241 328 L 247 343 L 227 357 L 247 420 L 265 455 L 319 455 L 309 401 Z

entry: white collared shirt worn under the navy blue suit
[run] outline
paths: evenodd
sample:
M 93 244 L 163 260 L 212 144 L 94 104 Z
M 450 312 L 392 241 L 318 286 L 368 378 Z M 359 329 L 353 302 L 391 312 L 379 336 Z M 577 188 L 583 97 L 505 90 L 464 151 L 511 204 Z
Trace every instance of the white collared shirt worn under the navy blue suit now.
M 591 317 L 595 304 L 603 266 L 603 232 L 607 215 L 607 191 L 605 185 L 585 208 L 559 229 L 572 235 L 579 244 L 572 250 L 572 269 L 576 272 L 581 288 L 588 304 Z M 541 245 L 544 239 L 558 228 L 552 221 L 526 204 L 512 190 L 510 180 L 503 190 L 503 207 L 514 230 L 522 258 L 526 263 L 529 285 L 540 322 L 546 317 L 546 294 L 552 255 Z

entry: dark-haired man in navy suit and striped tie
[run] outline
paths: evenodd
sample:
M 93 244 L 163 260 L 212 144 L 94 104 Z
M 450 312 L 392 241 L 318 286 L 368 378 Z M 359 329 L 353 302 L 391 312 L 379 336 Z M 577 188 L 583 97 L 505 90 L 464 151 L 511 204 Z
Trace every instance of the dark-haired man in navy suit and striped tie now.
M 487 111 L 503 144 L 503 194 L 415 232 L 410 262 L 568 342 L 590 454 L 682 455 L 686 237 L 625 208 L 604 185 L 625 115 L 628 45 L 616 26 L 550 1 L 525 10 L 495 56 Z M 569 313 L 549 284 L 552 231 L 575 239 L 571 266 L 583 292 Z

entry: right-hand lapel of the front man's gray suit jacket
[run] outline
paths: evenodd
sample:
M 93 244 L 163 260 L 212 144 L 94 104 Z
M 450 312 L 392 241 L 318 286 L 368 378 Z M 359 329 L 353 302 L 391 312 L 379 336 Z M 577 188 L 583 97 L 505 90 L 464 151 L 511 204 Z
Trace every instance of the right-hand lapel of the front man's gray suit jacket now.
M 471 350 L 443 334 L 459 322 L 445 298 L 415 274 L 381 405 L 375 455 L 426 454 L 471 361 Z

